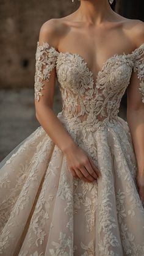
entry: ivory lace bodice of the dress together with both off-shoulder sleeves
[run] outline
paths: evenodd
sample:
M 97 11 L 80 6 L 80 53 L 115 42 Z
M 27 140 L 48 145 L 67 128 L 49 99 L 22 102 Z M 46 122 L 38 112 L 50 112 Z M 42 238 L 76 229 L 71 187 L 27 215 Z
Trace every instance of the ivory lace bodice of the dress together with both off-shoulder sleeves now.
M 47 42 L 43 45 L 37 42 L 35 99 L 40 99 L 42 82 L 49 81 L 56 67 L 65 122 L 87 127 L 110 125 L 117 122 L 120 101 L 133 69 L 140 79 L 139 90 L 144 102 L 143 59 L 144 43 L 130 54 L 114 54 L 107 59 L 94 79 L 87 62 L 79 54 L 62 53 Z

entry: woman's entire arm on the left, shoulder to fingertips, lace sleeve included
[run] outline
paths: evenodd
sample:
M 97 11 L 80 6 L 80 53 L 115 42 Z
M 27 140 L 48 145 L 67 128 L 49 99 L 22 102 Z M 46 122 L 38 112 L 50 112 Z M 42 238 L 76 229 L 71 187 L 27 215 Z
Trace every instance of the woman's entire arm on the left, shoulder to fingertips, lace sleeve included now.
M 44 23 L 40 29 L 40 47 L 43 46 L 43 42 L 49 42 L 49 45 L 53 47 L 56 45 L 56 40 L 54 42 L 57 34 L 55 22 L 52 19 L 47 23 Z M 67 156 L 68 167 L 73 176 L 85 181 L 94 181 L 100 175 L 99 170 L 84 150 L 77 147 L 68 131 L 65 130 L 59 118 L 52 110 L 56 81 L 56 56 L 54 56 L 51 49 L 42 47 L 41 50 L 40 48 L 38 49 L 36 54 L 35 114 L 38 122 L 49 137 L 51 137 L 52 141 Z

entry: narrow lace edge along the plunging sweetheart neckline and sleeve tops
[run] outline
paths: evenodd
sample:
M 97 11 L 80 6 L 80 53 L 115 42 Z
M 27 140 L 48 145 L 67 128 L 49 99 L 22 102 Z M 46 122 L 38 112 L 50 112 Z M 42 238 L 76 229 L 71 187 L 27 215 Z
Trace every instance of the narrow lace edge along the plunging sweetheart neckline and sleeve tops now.
M 81 59 L 83 64 L 86 65 L 87 69 L 88 69 L 88 72 L 90 73 L 90 75 L 92 75 L 92 79 L 93 79 L 93 84 L 96 84 L 96 82 L 98 81 L 98 78 L 99 78 L 99 75 L 103 72 L 104 68 L 106 67 L 107 64 L 109 64 L 110 60 L 112 60 L 113 58 L 117 58 L 117 57 L 129 57 L 129 56 L 133 56 L 133 54 L 137 53 L 137 50 L 140 49 L 141 47 L 144 48 L 144 43 L 142 43 L 142 45 L 140 45 L 139 47 L 135 48 L 131 53 L 121 53 L 121 54 L 118 54 L 118 53 L 115 53 L 113 54 L 112 56 L 110 56 L 105 62 L 103 62 L 103 66 L 102 68 L 98 71 L 97 75 L 96 75 L 96 78 L 94 78 L 94 75 L 93 75 L 93 71 L 91 70 L 91 68 L 88 67 L 88 63 L 87 61 L 84 59 L 84 57 L 81 56 L 81 54 L 79 53 L 70 53 L 69 51 L 65 51 L 65 53 L 63 53 L 62 51 L 57 51 L 56 48 L 54 48 L 54 46 L 52 45 L 49 45 L 48 42 L 43 42 L 42 45 L 40 45 L 40 43 L 37 41 L 37 46 L 44 46 L 44 45 L 48 45 L 48 48 L 52 48 L 54 49 L 54 51 L 56 51 L 57 54 L 69 54 L 70 56 L 77 56 L 77 58 Z

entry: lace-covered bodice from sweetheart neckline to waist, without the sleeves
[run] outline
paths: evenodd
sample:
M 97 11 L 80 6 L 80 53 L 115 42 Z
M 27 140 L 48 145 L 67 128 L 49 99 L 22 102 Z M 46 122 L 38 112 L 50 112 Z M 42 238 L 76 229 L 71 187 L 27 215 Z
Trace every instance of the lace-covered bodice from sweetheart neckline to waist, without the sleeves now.
M 73 65 L 74 64 L 74 65 Z M 110 57 L 96 82 L 78 54 L 59 54 L 57 79 L 62 94 L 62 115 L 67 127 L 90 130 L 117 122 L 121 98 L 131 78 L 133 62 L 127 55 Z M 72 125 L 73 123 L 73 125 Z

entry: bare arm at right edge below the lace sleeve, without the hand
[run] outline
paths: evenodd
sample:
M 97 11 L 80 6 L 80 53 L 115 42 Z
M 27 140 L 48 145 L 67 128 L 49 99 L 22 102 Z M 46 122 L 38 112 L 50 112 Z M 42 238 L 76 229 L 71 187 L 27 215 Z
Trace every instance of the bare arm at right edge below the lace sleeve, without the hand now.
M 127 121 L 131 131 L 139 173 L 144 175 L 144 103 L 138 89 L 136 73 L 128 87 Z

